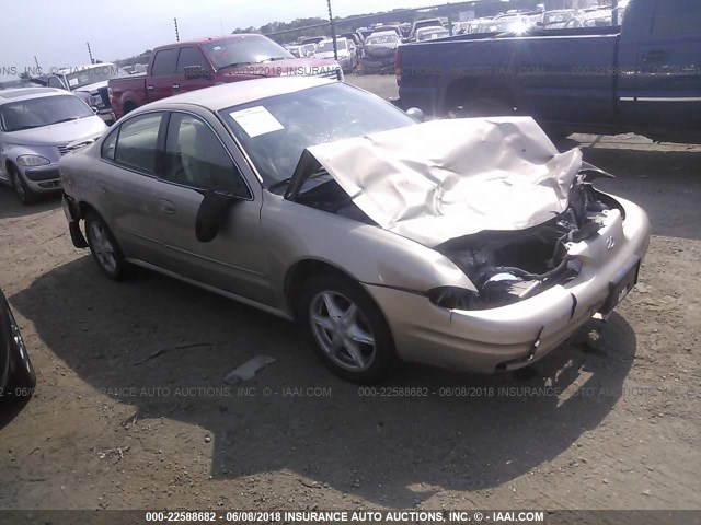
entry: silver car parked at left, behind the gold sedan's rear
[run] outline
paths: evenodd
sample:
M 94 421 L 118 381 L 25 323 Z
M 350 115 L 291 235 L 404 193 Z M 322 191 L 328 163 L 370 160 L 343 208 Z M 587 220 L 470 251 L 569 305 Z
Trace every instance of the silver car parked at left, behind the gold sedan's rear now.
M 58 161 L 68 144 L 90 141 L 107 128 L 78 96 L 51 88 L 0 91 L 0 184 L 24 205 L 60 190 Z

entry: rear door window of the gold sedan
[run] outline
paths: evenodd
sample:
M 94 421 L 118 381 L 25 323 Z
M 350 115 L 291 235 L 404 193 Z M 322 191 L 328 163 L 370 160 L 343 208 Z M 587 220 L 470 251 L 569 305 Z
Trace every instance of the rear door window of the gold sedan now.
M 119 127 L 114 161 L 141 172 L 156 173 L 158 132 L 162 117 L 161 113 L 149 113 L 124 122 Z

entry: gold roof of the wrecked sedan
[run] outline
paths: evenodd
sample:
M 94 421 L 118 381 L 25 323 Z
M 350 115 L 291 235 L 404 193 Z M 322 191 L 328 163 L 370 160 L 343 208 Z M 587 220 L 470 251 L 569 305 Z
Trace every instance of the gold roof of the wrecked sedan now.
M 334 83 L 336 83 L 335 80 L 297 75 L 246 80 L 189 91 L 181 95 L 153 102 L 142 107 L 148 107 L 149 109 L 166 109 L 173 104 L 193 104 L 212 112 L 218 112 L 226 107 L 238 106 L 271 96 L 285 95 L 287 93 L 295 93 L 310 88 Z

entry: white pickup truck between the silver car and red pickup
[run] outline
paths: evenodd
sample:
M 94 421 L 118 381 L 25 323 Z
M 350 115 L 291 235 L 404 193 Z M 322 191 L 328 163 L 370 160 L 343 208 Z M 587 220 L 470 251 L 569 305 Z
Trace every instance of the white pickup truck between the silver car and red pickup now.
M 96 114 L 107 124 L 114 121 L 107 84 L 111 79 L 129 74 L 114 63 L 101 62 L 76 68 L 60 69 L 56 73 L 37 79 L 47 88 L 68 90 L 80 96 L 85 103 L 95 108 Z

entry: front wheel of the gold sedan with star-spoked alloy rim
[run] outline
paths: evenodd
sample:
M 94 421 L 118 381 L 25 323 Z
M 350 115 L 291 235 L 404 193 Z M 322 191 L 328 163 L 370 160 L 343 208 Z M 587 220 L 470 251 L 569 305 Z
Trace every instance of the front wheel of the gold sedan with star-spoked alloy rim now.
M 376 383 L 397 361 L 382 312 L 360 284 L 348 278 L 312 278 L 304 285 L 297 313 L 323 363 L 345 380 Z

